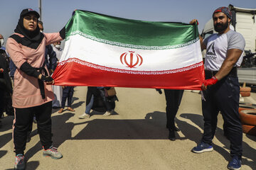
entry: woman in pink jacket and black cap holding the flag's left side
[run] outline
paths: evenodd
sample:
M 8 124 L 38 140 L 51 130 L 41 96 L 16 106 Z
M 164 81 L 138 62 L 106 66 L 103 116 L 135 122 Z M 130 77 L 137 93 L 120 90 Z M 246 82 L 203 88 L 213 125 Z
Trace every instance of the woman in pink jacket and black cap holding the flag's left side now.
M 6 43 L 6 50 L 17 69 L 14 73 L 13 106 L 15 168 L 25 169 L 24 149 L 26 136 L 36 115 L 38 133 L 43 145 L 43 155 L 59 159 L 62 154 L 51 141 L 51 111 L 54 95 L 53 79 L 45 63 L 46 45 L 63 40 L 65 28 L 60 33 L 41 33 L 38 28 L 39 14 L 31 8 L 21 11 L 18 25 Z

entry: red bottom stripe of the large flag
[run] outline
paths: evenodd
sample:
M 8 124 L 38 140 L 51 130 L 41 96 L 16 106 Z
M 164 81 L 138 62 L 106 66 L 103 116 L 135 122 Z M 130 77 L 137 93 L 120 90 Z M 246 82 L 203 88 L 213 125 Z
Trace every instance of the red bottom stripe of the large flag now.
M 108 72 L 79 64 L 58 64 L 53 74 L 55 85 L 65 86 L 119 86 L 157 89 L 200 90 L 204 80 L 203 65 L 172 74 L 126 74 Z

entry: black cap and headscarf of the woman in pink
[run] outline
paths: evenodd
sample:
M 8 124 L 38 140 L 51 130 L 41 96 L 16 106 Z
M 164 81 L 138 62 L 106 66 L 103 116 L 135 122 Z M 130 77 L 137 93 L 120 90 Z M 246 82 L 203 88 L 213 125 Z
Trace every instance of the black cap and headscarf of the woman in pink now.
M 28 11 L 28 12 L 24 13 L 24 11 Z M 39 17 L 39 14 L 36 11 L 33 11 L 31 8 L 23 9 L 23 11 L 21 11 L 20 18 L 18 19 L 18 25 L 16 26 L 16 29 L 14 30 L 14 32 L 24 35 L 25 38 L 22 38 L 23 45 L 26 45 L 32 48 L 37 48 L 38 45 L 43 40 L 44 35 L 43 33 L 40 32 L 40 29 L 38 28 L 38 26 L 36 27 L 36 30 L 33 30 L 33 31 L 30 31 L 24 28 L 23 18 L 28 13 L 35 13 L 36 17 L 37 18 Z

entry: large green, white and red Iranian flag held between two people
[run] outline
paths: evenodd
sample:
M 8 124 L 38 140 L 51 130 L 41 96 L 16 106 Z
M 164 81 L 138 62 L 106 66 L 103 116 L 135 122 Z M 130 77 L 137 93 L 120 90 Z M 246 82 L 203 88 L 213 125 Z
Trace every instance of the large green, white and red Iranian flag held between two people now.
M 201 89 L 197 26 L 77 10 L 65 26 L 55 85 Z

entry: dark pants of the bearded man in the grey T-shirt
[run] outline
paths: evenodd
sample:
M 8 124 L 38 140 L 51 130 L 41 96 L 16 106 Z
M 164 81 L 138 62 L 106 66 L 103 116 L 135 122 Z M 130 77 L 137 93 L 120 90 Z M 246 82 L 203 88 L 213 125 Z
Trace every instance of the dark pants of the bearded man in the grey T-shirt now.
M 206 77 L 209 79 L 210 77 Z M 217 128 L 217 116 L 223 115 L 225 130 L 230 140 L 230 155 L 242 157 L 242 125 L 238 113 L 239 107 L 238 77 L 226 76 L 217 84 L 203 91 L 202 108 L 204 132 L 202 142 L 212 143 Z

